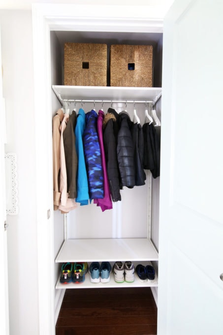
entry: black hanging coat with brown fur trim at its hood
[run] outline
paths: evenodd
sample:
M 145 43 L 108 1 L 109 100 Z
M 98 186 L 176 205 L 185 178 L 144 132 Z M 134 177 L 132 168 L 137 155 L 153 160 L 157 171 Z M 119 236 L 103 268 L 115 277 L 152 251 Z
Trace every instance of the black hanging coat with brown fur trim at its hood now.
M 120 173 L 117 159 L 117 136 L 119 114 L 113 109 L 108 108 L 103 120 L 103 142 L 107 174 L 112 201 L 121 201 Z

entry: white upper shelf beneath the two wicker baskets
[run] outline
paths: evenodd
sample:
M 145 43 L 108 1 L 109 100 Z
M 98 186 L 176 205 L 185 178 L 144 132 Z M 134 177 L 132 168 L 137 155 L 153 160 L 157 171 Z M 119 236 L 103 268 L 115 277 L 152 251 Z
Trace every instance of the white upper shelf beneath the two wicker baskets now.
M 156 102 L 161 95 L 157 87 L 59 86 L 52 89 L 59 100 L 143 100 Z

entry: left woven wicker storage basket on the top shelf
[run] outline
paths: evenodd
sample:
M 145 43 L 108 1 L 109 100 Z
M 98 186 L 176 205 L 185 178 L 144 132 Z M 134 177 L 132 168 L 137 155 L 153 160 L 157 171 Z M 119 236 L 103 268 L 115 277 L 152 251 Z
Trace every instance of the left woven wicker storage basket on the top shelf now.
M 64 85 L 106 86 L 107 45 L 64 43 Z

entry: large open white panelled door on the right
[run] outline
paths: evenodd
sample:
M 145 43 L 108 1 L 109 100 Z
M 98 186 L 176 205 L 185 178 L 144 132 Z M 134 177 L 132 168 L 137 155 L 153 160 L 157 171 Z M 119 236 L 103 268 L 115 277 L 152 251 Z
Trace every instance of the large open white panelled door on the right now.
M 159 335 L 223 334 L 223 1 L 164 19 Z

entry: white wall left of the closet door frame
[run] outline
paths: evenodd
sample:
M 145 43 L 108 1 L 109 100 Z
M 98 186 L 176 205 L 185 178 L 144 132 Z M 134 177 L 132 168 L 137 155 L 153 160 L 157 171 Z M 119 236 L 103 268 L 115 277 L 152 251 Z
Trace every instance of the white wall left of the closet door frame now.
M 19 214 L 8 216 L 7 232 L 10 335 L 37 335 L 32 12 L 0 10 L 0 25 L 6 152 L 18 156 Z

